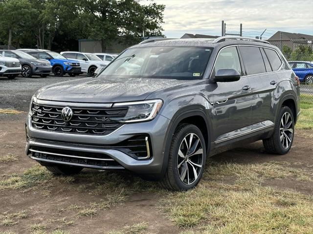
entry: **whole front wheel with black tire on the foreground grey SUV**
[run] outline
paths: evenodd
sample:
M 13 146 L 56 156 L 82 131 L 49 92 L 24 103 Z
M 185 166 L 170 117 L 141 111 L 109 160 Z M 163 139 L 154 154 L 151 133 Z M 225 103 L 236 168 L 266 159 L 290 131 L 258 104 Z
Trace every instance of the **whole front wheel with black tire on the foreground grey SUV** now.
M 193 143 L 189 144 L 189 148 L 187 143 L 185 143 L 184 141 L 185 138 L 188 141 L 188 137 L 189 140 L 190 137 L 193 137 L 192 138 Z M 198 145 L 194 147 L 198 139 L 199 139 Z M 192 152 L 194 153 L 200 152 L 201 151 L 200 147 L 202 148 L 202 155 L 192 154 Z M 192 149 L 191 153 L 189 152 L 190 149 Z M 181 155 L 183 155 L 184 157 L 182 157 Z M 193 159 L 191 159 L 191 156 Z M 197 162 L 197 158 L 198 163 L 194 164 L 195 161 Z M 171 142 L 168 165 L 165 175 L 161 179 L 161 185 L 164 188 L 173 191 L 186 191 L 194 188 L 195 186 L 197 186 L 203 175 L 205 159 L 206 159 L 205 141 L 199 128 L 193 124 L 179 125 L 174 133 Z M 193 168 L 195 168 L 197 176 L 195 176 L 195 171 L 193 170 Z M 182 179 L 180 177 L 182 177 Z M 193 177 L 191 181 L 190 177 Z

